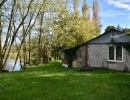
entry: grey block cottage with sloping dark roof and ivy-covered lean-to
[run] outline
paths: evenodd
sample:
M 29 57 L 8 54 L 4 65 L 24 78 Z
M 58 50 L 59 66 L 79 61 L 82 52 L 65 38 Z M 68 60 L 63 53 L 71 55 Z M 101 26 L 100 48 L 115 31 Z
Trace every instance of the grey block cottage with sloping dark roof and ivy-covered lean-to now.
M 64 50 L 69 67 L 104 67 L 130 71 L 130 34 L 110 30 Z

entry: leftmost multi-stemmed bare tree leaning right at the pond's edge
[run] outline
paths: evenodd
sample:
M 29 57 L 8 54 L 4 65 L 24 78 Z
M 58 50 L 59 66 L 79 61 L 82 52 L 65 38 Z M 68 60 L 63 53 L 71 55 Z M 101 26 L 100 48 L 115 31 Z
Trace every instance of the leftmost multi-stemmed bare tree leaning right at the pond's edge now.
M 32 2 L 33 0 L 30 0 L 27 2 L 27 10 L 25 11 L 25 14 L 21 19 L 19 17 L 20 13 L 18 10 L 19 0 L 17 1 L 12 0 L 12 1 L 9 1 L 8 4 L 6 4 L 6 6 L 8 5 L 10 6 L 8 6 L 9 7 L 8 12 L 5 11 L 5 15 L 3 15 L 2 18 L 4 19 L 3 22 L 9 22 L 9 23 L 7 23 L 7 25 L 5 26 L 5 28 L 7 28 L 7 31 L 5 30 L 2 31 L 2 32 L 5 31 L 5 41 L 4 41 L 4 45 L 1 52 L 1 55 L 2 55 L 1 66 L 0 66 L 1 70 L 5 69 L 5 64 L 10 56 L 10 51 L 12 49 L 14 41 L 16 40 L 16 37 L 19 33 L 20 28 L 28 16 L 28 13 L 31 9 Z M 3 11 L 4 10 L 6 9 L 3 9 Z

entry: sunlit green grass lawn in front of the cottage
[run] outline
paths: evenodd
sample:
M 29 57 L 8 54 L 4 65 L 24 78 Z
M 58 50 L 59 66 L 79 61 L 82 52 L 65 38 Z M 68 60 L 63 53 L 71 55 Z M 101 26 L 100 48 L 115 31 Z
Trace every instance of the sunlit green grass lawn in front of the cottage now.
M 0 100 L 130 100 L 130 73 L 80 72 L 61 62 L 0 73 Z

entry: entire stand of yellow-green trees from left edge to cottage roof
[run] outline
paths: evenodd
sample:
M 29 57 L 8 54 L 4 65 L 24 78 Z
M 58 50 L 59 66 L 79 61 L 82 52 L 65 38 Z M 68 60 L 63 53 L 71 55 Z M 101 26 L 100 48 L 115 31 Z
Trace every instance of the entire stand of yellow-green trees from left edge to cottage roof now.
M 60 56 L 64 48 L 99 35 L 96 21 L 78 14 L 80 3 L 81 0 L 2 0 L 0 69 L 5 69 L 9 57 L 26 66 L 31 59 L 40 62 L 52 54 Z M 74 5 L 75 13 L 70 5 Z M 87 9 L 84 0 L 84 12 Z

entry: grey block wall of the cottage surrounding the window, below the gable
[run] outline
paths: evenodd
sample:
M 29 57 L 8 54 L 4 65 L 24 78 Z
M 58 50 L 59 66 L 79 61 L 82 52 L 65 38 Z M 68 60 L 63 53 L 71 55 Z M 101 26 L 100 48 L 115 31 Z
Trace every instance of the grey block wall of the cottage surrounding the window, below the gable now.
M 91 67 L 105 67 L 123 71 L 126 68 L 130 71 L 130 56 L 123 48 L 123 62 L 108 61 L 108 46 L 106 44 L 88 45 L 88 64 Z

